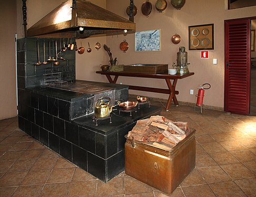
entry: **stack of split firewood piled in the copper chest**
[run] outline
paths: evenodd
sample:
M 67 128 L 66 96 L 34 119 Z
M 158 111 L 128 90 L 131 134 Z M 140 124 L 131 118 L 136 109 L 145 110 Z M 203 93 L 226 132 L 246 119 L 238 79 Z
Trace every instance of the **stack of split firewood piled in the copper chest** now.
M 170 150 L 190 133 L 188 122 L 174 122 L 163 116 L 138 120 L 127 138 Z

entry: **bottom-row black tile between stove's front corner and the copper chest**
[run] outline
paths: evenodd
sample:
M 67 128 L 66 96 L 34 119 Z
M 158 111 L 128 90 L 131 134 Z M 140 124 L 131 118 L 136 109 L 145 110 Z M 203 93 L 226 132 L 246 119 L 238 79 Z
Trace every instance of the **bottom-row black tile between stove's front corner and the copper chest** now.
M 106 160 L 107 165 L 107 181 L 113 179 L 116 175 L 124 171 L 124 150 L 115 154 Z

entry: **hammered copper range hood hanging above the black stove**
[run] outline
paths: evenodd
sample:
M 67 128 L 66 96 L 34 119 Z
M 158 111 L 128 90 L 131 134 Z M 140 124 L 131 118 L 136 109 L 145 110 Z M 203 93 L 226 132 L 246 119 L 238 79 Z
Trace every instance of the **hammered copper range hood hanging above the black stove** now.
M 135 23 L 91 2 L 69 0 L 29 28 L 27 36 L 86 38 L 125 29 L 135 30 Z

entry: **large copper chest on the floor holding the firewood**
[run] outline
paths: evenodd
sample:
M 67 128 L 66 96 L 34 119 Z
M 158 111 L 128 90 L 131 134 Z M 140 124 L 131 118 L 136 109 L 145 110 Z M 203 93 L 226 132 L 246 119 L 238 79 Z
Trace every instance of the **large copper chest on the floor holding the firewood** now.
M 127 139 L 125 173 L 153 188 L 172 193 L 195 167 L 194 134 L 192 130 L 171 151 Z

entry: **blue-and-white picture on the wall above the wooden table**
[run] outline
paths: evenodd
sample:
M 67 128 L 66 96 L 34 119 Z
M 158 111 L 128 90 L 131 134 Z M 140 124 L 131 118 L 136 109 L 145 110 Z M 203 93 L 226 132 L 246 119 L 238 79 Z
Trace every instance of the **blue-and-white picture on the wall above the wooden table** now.
M 160 29 L 135 32 L 135 51 L 160 51 Z

